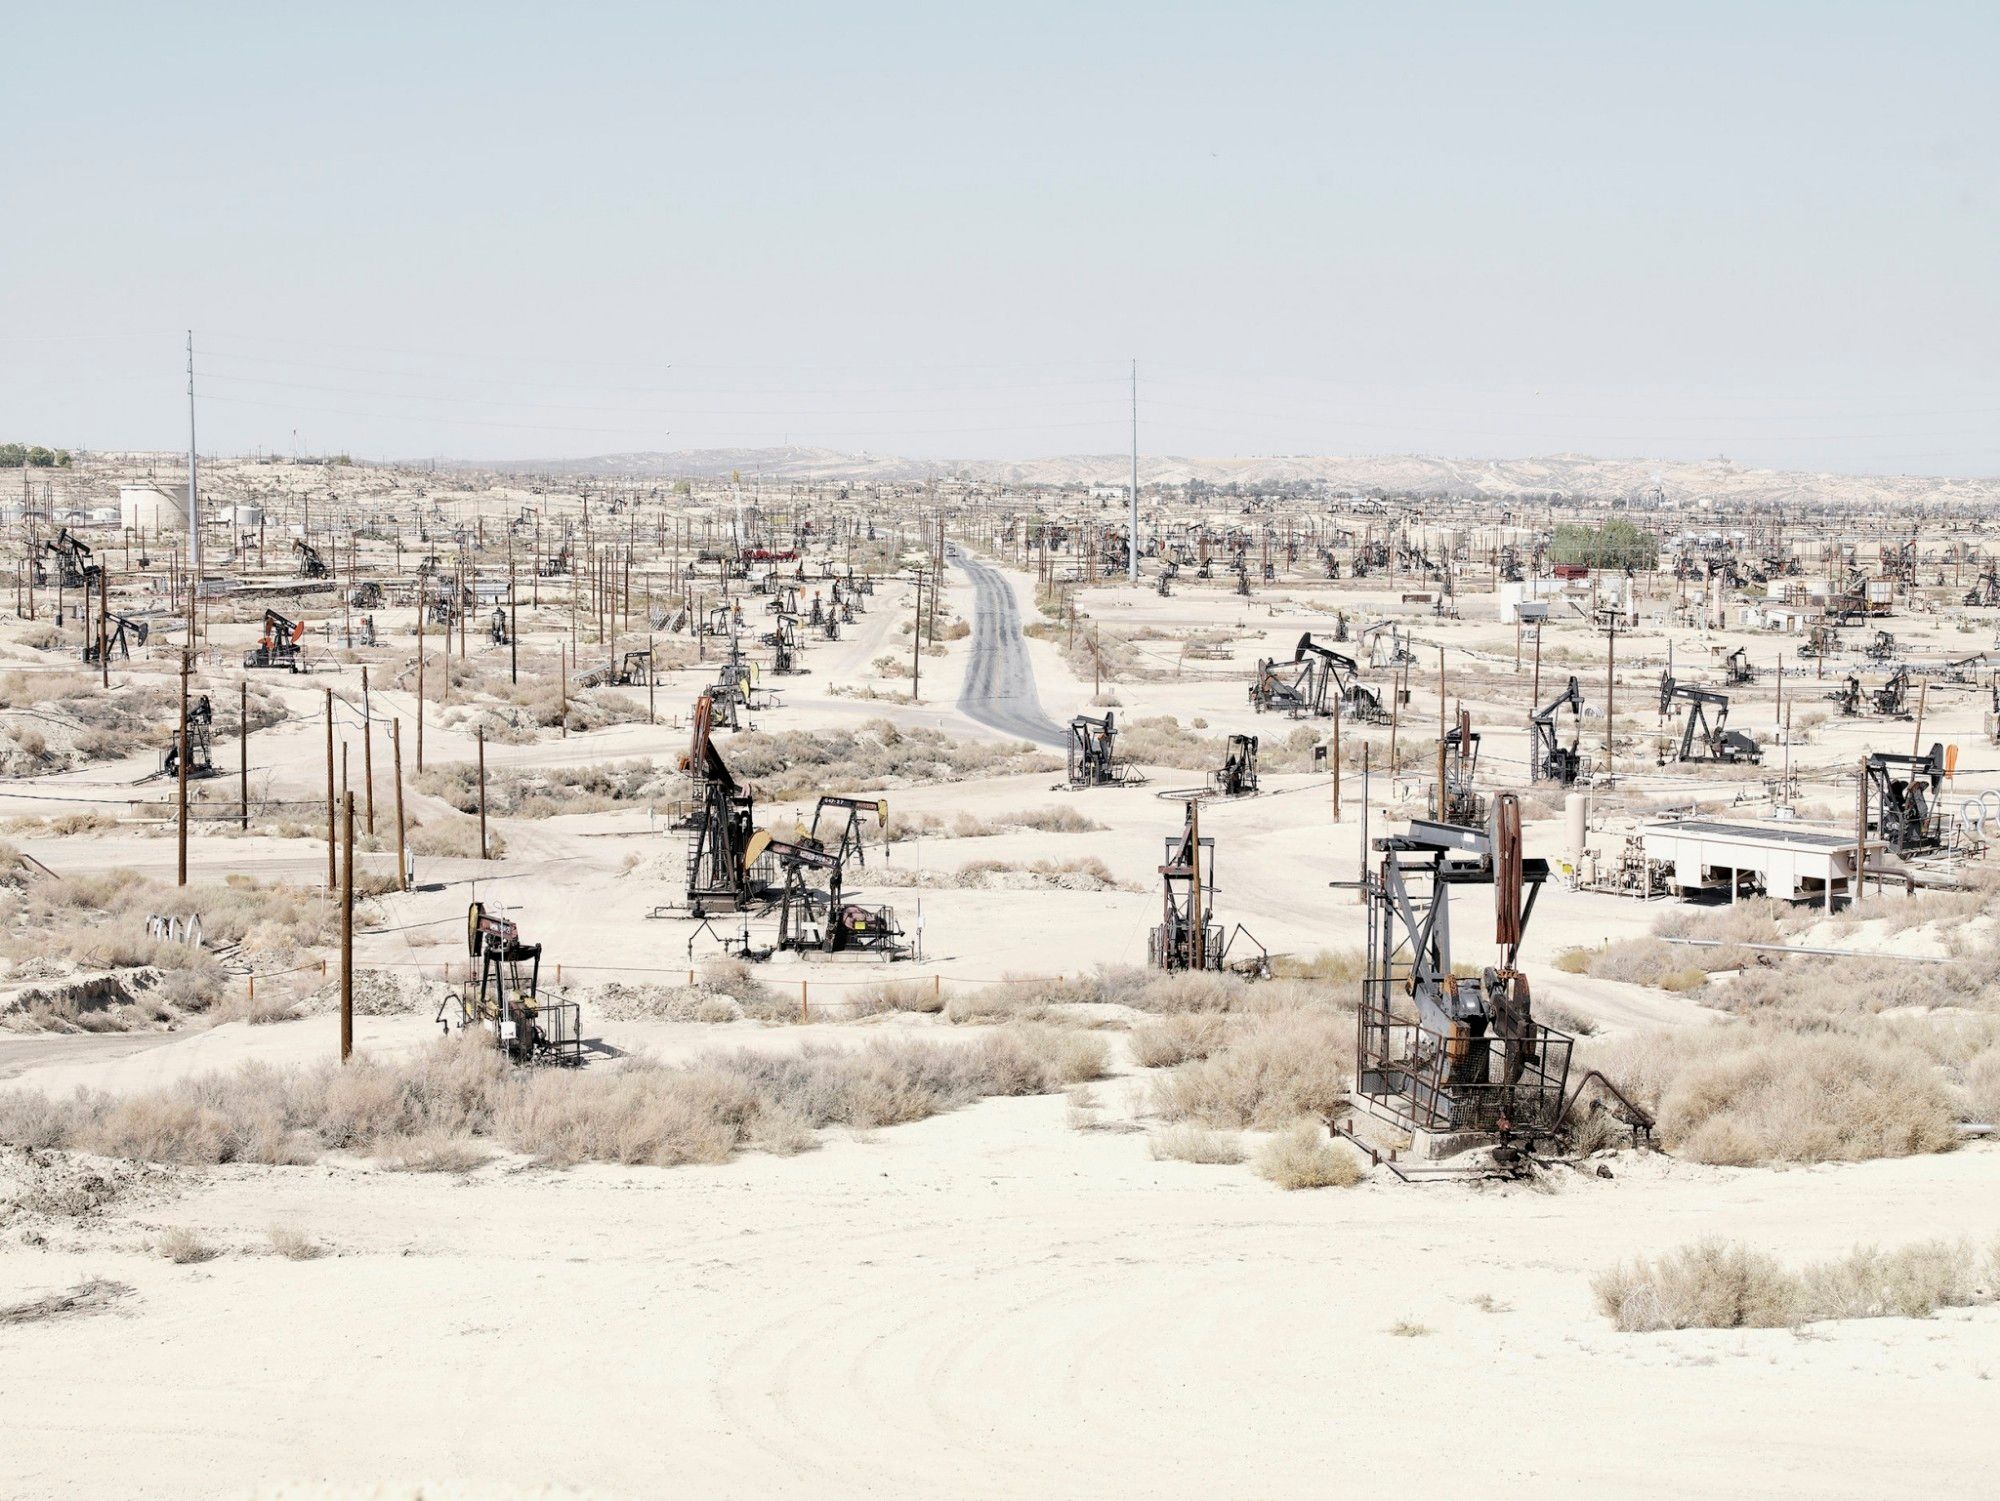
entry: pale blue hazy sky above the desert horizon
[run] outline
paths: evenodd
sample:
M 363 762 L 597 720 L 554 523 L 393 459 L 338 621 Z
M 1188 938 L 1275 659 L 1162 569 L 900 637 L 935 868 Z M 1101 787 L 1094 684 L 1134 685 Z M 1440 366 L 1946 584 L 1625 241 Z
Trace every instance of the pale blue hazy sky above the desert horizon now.
M 2000 472 L 1992 0 L 0 14 L 0 438 Z

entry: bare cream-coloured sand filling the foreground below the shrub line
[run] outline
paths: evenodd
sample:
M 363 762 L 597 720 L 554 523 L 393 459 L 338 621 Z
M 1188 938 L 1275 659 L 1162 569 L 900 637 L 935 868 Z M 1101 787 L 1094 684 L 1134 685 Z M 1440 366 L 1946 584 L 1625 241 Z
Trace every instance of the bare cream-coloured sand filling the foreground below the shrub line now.
M 206 1061 L 250 1031 L 220 1029 Z M 328 1019 L 256 1031 L 332 1041 Z M 362 1041 L 412 1031 L 364 1019 Z M 1098 1093 L 1094 1119 L 1118 1125 L 1132 1087 Z M 176 1175 L 88 1247 L 0 1251 L 20 1295 L 82 1275 L 136 1289 L 0 1331 L 0 1491 L 440 1477 L 656 1495 L 670 1475 L 704 1495 L 1248 1499 L 1374 1487 L 1394 1465 L 1556 1495 L 1970 1495 L 2000 1309 L 1618 1335 L 1588 1279 L 1722 1227 L 1798 1259 L 1990 1239 L 1996 1169 L 1992 1147 L 1790 1173 L 1624 1155 L 1610 1181 L 1560 1173 L 1546 1193 L 1286 1195 L 1076 1131 L 1052 1097 L 718 1169 Z M 168 1225 L 230 1251 L 146 1255 Z M 334 1255 L 264 1255 L 272 1225 Z M 1404 1321 L 1424 1333 L 1392 1333 Z M 1440 1393 L 1466 1413 L 1452 1441 L 1402 1439 Z M 114 1445 L 94 1441 L 108 1409 Z

